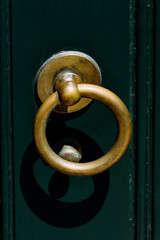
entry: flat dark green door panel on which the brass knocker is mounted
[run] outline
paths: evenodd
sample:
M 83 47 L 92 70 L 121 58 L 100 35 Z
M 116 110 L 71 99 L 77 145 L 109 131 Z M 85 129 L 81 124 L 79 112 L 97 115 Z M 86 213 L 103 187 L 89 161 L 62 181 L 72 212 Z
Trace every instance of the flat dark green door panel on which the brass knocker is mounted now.
M 101 239 L 108 236 L 112 239 L 128 238 L 129 152 L 102 176 L 64 178 L 54 175 L 54 170 L 35 156 L 34 147 L 27 149 L 33 141 L 32 129 L 37 111 L 33 91 L 35 75 L 53 53 L 78 50 L 91 55 L 100 65 L 102 86 L 117 93 L 129 106 L 128 29 L 128 1 L 123 2 L 123 7 L 120 1 L 114 4 L 107 1 L 81 1 L 78 4 L 75 1 L 13 1 L 16 239 L 36 240 L 46 236 L 48 240 L 82 239 L 82 236 L 87 239 L 99 236 Z M 53 119 L 52 124 L 57 122 Z M 90 151 L 91 159 L 98 154 L 102 156 L 116 137 L 114 117 L 99 103 L 94 103 L 74 120 L 58 124 L 59 131 L 63 131 L 64 124 L 73 128 L 75 138 L 80 135 L 81 144 L 86 142 L 90 145 L 90 150 L 84 151 Z M 54 129 L 49 131 L 54 134 Z M 64 131 L 68 130 L 65 128 Z M 95 153 L 91 149 L 95 149 Z M 34 166 L 32 161 L 36 161 Z M 25 171 L 29 174 L 24 177 Z M 53 200 L 48 190 L 51 178 Z M 56 189 L 63 188 L 64 184 L 68 184 L 68 191 L 62 189 L 59 194 L 64 196 L 57 199 Z

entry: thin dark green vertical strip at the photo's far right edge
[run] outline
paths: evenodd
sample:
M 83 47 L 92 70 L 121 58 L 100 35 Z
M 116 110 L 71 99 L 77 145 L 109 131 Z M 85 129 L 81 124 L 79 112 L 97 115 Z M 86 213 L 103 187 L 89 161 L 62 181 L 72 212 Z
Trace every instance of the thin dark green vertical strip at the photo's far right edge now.
M 154 52 L 154 70 L 155 83 L 154 88 L 154 184 L 153 184 L 153 239 L 160 239 L 160 1 L 154 2 L 155 19 L 155 52 Z

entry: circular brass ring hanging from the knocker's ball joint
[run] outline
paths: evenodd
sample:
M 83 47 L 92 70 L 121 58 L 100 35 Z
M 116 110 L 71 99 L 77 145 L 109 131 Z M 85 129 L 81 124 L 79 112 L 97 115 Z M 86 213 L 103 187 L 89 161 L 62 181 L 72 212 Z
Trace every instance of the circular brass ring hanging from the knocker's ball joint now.
M 49 96 L 39 108 L 35 118 L 34 138 L 41 157 L 57 171 L 73 176 L 91 176 L 110 168 L 126 152 L 132 136 L 132 120 L 125 104 L 113 92 L 92 84 L 78 84 L 78 89 L 81 96 L 99 100 L 114 113 L 118 122 L 118 137 L 112 148 L 101 158 L 86 163 L 67 161 L 51 149 L 45 126 L 52 110 L 60 104 L 57 92 Z

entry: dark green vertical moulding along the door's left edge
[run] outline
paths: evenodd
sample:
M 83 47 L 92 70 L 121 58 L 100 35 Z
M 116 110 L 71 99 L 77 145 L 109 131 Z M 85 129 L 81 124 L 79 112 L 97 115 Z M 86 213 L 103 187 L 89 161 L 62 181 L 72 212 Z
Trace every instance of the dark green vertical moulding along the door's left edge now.
M 2 239 L 14 239 L 12 84 L 11 84 L 11 1 L 0 4 L 0 134 L 2 169 Z

